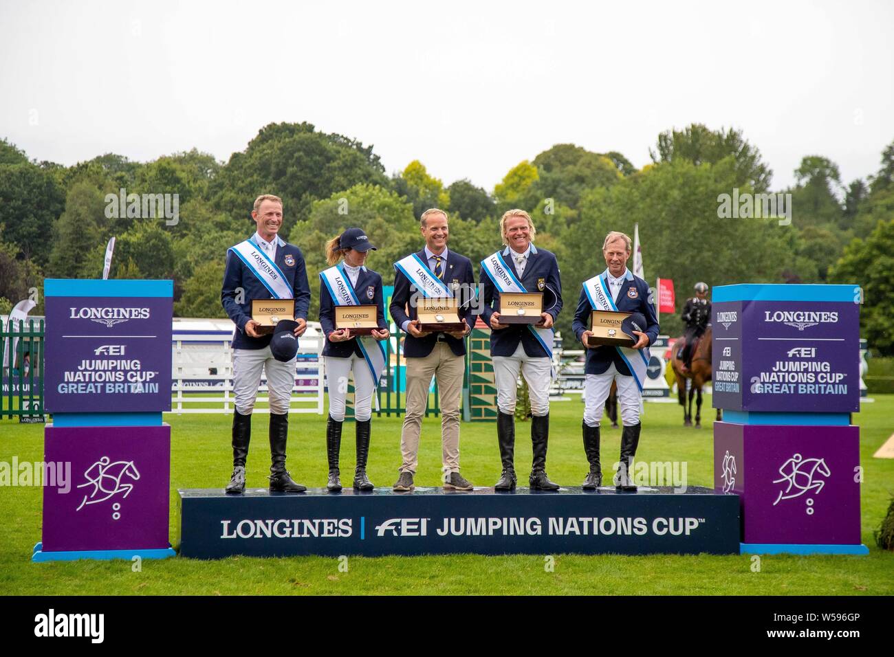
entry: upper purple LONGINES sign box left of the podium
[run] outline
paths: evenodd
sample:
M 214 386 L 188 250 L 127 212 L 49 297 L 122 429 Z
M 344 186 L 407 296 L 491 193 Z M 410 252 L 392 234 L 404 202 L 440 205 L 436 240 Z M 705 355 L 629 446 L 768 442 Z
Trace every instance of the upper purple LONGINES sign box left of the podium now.
M 171 409 L 170 297 L 46 297 L 51 413 Z

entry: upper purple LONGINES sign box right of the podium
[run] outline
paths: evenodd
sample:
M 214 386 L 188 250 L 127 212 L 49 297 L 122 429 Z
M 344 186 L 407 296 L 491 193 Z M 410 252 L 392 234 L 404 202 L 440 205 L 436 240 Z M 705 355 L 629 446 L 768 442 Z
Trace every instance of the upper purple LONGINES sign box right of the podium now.
M 860 409 L 859 306 L 840 301 L 713 304 L 713 407 Z

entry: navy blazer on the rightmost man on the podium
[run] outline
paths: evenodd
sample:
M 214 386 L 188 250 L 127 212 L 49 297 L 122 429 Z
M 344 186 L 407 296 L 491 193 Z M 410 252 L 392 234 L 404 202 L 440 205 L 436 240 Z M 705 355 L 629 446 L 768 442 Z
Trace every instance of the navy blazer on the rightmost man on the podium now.
M 600 274 L 602 275 L 602 274 Z M 608 282 L 605 288 L 610 289 Z M 658 337 L 658 316 L 655 315 L 655 307 L 649 303 L 649 284 L 638 276 L 634 276 L 627 270 L 624 282 L 621 283 L 618 299 L 614 299 L 615 306 L 621 312 L 642 313 L 645 317 L 645 333 L 649 336 L 649 344 L 654 344 Z M 571 323 L 571 329 L 574 334 L 580 336 L 585 331 L 590 330 L 590 313 L 593 307 L 590 306 L 590 299 L 586 296 L 583 287 L 580 290 L 580 299 L 578 299 L 578 309 L 574 313 L 574 321 Z M 586 350 L 586 366 L 585 374 L 601 375 L 609 368 L 611 363 L 615 364 L 615 368 L 620 375 L 631 376 L 630 370 L 623 358 L 620 358 L 618 350 L 611 345 L 603 345 L 601 347 L 592 347 Z

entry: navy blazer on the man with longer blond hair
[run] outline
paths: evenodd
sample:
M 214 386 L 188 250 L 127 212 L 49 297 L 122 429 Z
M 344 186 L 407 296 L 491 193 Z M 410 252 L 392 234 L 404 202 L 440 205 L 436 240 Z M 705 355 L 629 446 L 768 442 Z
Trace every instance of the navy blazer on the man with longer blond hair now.
M 519 270 L 515 266 L 515 259 L 503 249 L 503 259 L 512 268 L 512 273 L 519 278 Z M 544 313 L 552 315 L 555 322 L 556 316 L 561 311 L 561 279 L 559 278 L 559 262 L 550 251 L 545 248 L 536 248 L 531 245 L 531 252 L 527 254 L 525 275 L 519 278 L 525 290 L 529 292 L 544 293 Z M 484 306 L 481 310 L 482 319 L 490 326 L 491 316 L 500 308 L 500 291 L 496 289 L 487 275 L 484 267 L 481 268 L 481 288 L 484 290 Z M 525 353 L 532 357 L 549 356 L 534 333 L 527 328 L 527 324 L 510 324 L 508 328 L 491 331 L 491 356 L 511 356 L 519 348 L 519 341 L 524 345 Z M 550 345 L 552 349 L 552 344 Z

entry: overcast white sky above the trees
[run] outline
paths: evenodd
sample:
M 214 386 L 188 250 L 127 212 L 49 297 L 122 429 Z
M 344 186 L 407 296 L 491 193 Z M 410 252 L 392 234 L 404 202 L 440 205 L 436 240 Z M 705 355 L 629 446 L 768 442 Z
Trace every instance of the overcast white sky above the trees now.
M 690 122 L 744 131 L 774 189 L 805 155 L 849 182 L 894 140 L 894 3 L 0 0 L 0 137 L 31 158 L 226 160 L 301 121 L 489 191 Z

